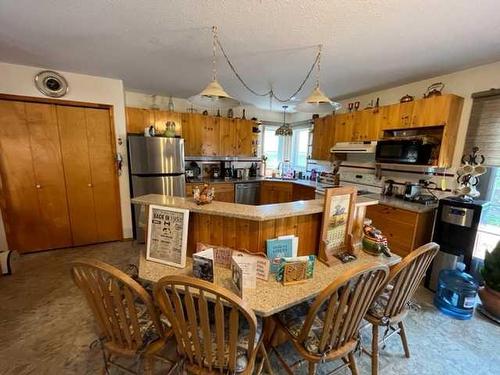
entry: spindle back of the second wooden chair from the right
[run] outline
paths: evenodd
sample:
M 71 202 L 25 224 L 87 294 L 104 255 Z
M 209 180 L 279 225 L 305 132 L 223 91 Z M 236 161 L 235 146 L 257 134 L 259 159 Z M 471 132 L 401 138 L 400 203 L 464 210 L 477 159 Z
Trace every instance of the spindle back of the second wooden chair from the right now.
M 318 353 L 342 351 L 356 342 L 359 324 L 373 298 L 384 285 L 389 268 L 385 265 L 362 265 L 336 279 L 316 297 L 297 341 L 303 343 L 318 314 L 323 320 Z

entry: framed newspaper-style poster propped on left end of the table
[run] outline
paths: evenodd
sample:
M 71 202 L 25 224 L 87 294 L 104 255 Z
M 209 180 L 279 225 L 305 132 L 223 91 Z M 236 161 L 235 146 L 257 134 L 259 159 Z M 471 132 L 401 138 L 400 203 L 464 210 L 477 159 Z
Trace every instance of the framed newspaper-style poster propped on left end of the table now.
M 146 259 L 186 267 L 189 210 L 149 206 Z

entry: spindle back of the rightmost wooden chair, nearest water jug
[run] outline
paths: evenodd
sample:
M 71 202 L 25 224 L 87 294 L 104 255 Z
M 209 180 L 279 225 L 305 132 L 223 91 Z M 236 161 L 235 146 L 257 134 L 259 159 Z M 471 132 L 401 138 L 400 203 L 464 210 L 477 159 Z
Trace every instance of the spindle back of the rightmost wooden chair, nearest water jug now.
M 387 285 L 392 285 L 383 316 L 395 317 L 406 310 L 410 298 L 422 282 L 427 269 L 439 251 L 439 245 L 430 242 L 408 254 L 389 273 Z M 384 292 L 384 286 L 380 293 Z

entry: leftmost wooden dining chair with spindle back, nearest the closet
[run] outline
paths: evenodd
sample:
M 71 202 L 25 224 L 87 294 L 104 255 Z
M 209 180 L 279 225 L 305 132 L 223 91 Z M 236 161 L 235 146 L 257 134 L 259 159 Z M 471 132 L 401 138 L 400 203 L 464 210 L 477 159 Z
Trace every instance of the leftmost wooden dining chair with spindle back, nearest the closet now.
M 132 374 L 152 373 L 155 360 L 171 336 L 160 321 L 152 297 L 130 276 L 96 259 L 72 262 L 71 274 L 97 320 L 104 372 L 111 366 Z M 123 360 L 132 361 L 126 367 Z

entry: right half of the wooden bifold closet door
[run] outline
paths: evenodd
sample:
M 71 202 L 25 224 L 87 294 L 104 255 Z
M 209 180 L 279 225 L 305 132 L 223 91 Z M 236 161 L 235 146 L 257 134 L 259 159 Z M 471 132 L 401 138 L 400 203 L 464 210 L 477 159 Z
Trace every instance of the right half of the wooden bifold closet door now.
M 121 239 L 109 112 L 58 106 L 74 245 Z

